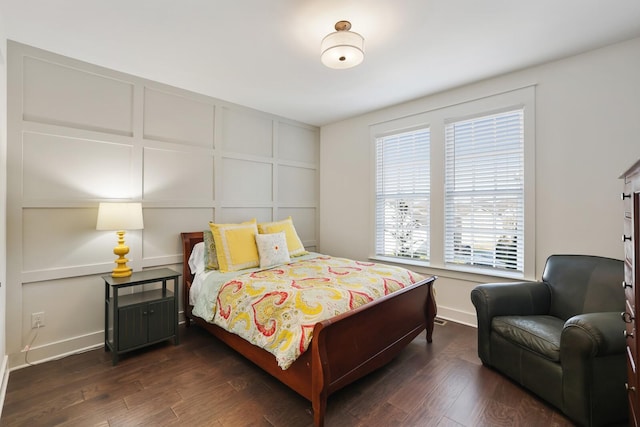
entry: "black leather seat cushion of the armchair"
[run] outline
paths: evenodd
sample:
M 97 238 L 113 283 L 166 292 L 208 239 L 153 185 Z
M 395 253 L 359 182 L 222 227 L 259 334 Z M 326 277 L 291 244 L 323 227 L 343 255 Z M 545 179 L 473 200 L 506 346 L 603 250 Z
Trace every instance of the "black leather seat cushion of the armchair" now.
M 553 316 L 498 316 L 491 321 L 494 332 L 515 345 L 560 361 L 560 336 L 564 322 Z

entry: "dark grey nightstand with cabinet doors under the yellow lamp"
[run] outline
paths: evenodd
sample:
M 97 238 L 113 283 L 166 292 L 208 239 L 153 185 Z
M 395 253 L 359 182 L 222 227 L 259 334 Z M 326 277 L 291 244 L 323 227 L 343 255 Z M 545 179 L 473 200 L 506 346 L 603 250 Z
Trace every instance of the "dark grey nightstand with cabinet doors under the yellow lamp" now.
M 169 268 L 144 270 L 129 277 L 102 276 L 104 280 L 104 349 L 113 364 L 122 353 L 164 340 L 178 345 L 178 278 Z M 173 289 L 167 289 L 167 281 Z M 162 282 L 162 288 L 118 295 L 123 288 Z

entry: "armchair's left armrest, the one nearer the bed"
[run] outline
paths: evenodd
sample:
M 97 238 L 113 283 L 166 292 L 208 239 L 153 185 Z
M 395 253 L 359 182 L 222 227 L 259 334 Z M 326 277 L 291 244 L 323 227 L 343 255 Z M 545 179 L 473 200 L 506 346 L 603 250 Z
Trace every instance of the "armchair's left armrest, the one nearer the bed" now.
M 491 319 L 495 316 L 547 314 L 551 291 L 543 282 L 487 283 L 471 291 L 478 318 L 478 356 L 491 365 Z

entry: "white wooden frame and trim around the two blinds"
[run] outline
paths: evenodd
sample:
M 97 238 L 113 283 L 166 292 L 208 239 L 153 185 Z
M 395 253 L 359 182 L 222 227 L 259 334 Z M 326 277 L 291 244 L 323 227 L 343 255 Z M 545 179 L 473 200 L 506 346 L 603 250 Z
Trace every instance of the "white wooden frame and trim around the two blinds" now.
M 494 268 L 474 268 L 465 265 L 445 263 L 445 125 L 458 120 L 484 116 L 501 111 L 522 108 L 524 116 L 524 256 L 523 271 L 513 272 Z M 376 255 L 376 139 L 394 133 L 403 133 L 420 127 L 430 129 L 431 180 L 430 180 L 430 250 L 429 261 L 410 259 L 398 260 L 393 257 Z M 373 123 L 369 127 L 371 141 L 371 188 L 372 208 L 371 241 L 369 258 L 376 261 L 392 262 L 408 266 L 424 267 L 434 274 L 456 278 L 477 280 L 477 276 L 501 277 L 520 280 L 535 280 L 536 225 L 535 225 L 535 85 L 528 85 L 471 100 L 451 102 L 437 108 L 425 107 L 421 112 L 409 116 Z

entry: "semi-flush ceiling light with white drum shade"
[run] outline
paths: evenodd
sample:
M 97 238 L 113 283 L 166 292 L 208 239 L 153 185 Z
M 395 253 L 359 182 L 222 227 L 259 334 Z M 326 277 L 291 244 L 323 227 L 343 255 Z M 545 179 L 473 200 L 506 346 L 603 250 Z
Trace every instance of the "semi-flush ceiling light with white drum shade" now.
M 352 31 L 351 22 L 338 21 L 336 32 L 322 39 L 320 45 L 322 63 L 329 68 L 355 67 L 364 60 L 364 38 Z

